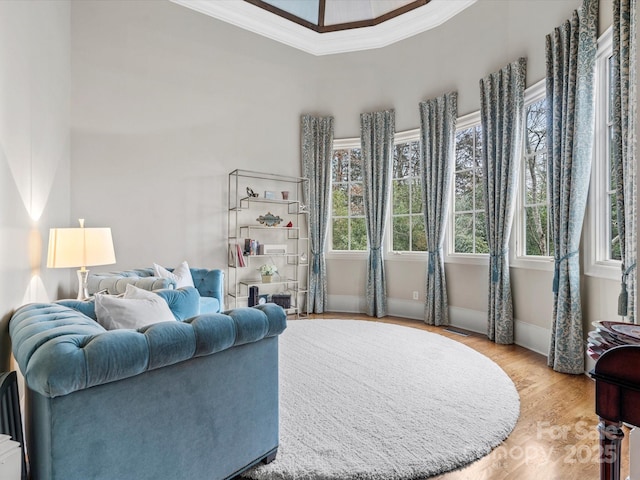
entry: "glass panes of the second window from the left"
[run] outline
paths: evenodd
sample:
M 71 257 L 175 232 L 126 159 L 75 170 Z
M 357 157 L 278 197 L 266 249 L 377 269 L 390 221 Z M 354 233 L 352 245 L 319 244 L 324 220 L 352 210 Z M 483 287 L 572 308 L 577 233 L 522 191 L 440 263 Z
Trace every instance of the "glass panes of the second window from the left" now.
M 426 252 L 420 140 L 395 144 L 392 169 L 392 249 L 395 252 Z

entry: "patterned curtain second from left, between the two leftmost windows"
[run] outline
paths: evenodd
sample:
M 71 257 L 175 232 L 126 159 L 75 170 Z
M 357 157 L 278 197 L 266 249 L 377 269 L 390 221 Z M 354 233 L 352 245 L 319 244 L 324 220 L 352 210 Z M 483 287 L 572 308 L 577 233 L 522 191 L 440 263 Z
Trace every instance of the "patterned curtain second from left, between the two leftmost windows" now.
M 362 189 L 369 242 L 367 314 L 378 318 L 387 314 L 387 282 L 382 240 L 387 217 L 394 134 L 395 112 L 393 110 L 360 115 Z

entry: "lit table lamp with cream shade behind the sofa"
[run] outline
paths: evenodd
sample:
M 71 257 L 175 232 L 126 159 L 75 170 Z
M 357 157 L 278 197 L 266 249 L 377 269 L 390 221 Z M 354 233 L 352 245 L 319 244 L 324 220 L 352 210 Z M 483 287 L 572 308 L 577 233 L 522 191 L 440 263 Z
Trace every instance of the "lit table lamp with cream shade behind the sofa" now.
M 78 273 L 78 300 L 89 296 L 86 267 L 116 263 L 110 228 L 51 228 L 49 230 L 48 268 L 80 267 Z

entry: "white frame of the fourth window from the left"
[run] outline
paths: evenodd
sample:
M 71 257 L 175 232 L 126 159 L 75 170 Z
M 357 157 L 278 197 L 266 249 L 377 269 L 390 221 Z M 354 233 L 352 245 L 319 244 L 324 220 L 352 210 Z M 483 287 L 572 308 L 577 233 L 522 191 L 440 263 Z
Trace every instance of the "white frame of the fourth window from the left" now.
M 554 269 L 554 257 L 546 256 L 546 255 L 527 255 L 526 245 L 526 212 L 525 212 L 525 196 L 527 194 L 525 188 L 525 168 L 524 168 L 524 156 L 525 156 L 525 148 L 524 142 L 526 142 L 526 115 L 527 115 L 527 107 L 532 103 L 536 103 L 547 95 L 546 92 L 546 79 L 542 79 L 534 85 L 527 88 L 524 92 L 524 124 L 522 131 L 522 149 L 520 153 L 520 172 L 518 174 L 518 195 L 516 199 L 516 213 L 514 218 L 514 228 L 511 232 L 511 238 L 509 239 L 509 251 L 511 252 L 509 258 L 509 266 L 515 268 L 526 268 L 532 270 L 546 270 L 553 271 Z M 547 137 L 547 145 L 549 145 L 549 138 Z M 548 152 L 547 152 L 548 155 Z M 549 205 L 549 190 L 547 185 L 547 205 Z M 551 212 L 548 210 L 548 215 Z M 549 234 L 552 235 L 553 232 L 551 229 L 549 230 Z M 553 242 L 553 238 L 549 239 L 550 242 Z

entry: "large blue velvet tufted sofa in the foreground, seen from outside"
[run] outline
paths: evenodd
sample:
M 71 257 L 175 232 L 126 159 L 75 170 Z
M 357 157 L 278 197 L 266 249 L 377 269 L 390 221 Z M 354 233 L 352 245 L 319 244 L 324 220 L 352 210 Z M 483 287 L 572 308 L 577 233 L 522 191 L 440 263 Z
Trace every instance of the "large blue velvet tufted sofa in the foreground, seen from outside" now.
M 139 330 L 105 330 L 91 301 L 14 313 L 32 480 L 221 480 L 275 458 L 284 310 L 182 319 L 184 290 L 158 292 L 178 321 Z

